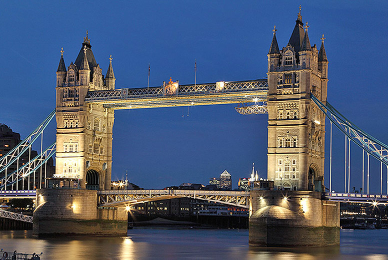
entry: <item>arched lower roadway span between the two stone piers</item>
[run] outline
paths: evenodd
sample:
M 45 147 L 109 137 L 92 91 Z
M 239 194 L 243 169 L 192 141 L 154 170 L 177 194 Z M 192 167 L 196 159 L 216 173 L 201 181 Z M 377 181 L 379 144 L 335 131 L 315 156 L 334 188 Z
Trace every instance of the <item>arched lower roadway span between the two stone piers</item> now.
M 98 191 L 97 195 L 98 206 L 100 207 L 118 207 L 149 201 L 192 198 L 245 209 L 249 208 L 249 192 L 239 191 L 123 190 Z

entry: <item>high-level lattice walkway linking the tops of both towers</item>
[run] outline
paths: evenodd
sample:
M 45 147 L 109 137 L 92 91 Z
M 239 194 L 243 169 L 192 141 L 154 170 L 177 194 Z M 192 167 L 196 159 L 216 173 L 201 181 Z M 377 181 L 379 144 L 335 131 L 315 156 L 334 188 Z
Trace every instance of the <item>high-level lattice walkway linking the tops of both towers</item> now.
M 266 101 L 266 79 L 180 85 L 173 94 L 165 86 L 89 91 L 85 102 L 112 109 L 235 104 Z

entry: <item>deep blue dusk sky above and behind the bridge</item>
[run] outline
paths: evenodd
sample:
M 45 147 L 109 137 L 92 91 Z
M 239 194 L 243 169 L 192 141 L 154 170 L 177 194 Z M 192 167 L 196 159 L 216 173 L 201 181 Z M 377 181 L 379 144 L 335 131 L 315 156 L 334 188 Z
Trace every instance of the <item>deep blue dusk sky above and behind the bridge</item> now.
M 0 122 L 25 137 L 55 107 L 55 71 L 64 49 L 74 61 L 88 30 L 106 73 L 113 57 L 116 88 L 146 87 L 170 77 L 193 84 L 265 78 L 276 25 L 285 46 L 302 5 L 311 44 L 326 38 L 328 101 L 361 129 L 388 143 L 388 3 L 386 1 L 1 1 Z M 252 162 L 266 177 L 267 115 L 236 105 L 116 110 L 112 179 L 143 188 L 208 183 L 227 169 L 233 188 Z M 328 123 L 326 123 L 328 125 Z M 326 127 L 325 183 L 328 185 Z M 55 122 L 44 145 L 55 140 Z M 344 138 L 333 131 L 333 189 L 343 190 Z M 38 149 L 38 146 L 35 147 Z M 351 186 L 361 186 L 360 149 L 351 150 Z M 371 192 L 379 163 L 371 160 Z M 383 171 L 386 193 L 386 169 Z

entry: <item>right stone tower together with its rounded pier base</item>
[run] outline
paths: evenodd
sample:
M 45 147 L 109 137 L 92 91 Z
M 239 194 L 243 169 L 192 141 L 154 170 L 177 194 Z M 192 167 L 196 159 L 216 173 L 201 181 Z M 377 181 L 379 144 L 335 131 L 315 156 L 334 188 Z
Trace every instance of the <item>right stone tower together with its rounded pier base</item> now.
M 304 28 L 304 29 L 303 29 Z M 327 98 L 327 58 L 310 45 L 300 10 L 288 44 L 268 52 L 267 178 L 274 190 L 251 190 L 249 245 L 318 247 L 339 244 L 339 204 L 324 192 L 325 115 L 310 99 Z M 285 199 L 284 199 L 285 198 Z

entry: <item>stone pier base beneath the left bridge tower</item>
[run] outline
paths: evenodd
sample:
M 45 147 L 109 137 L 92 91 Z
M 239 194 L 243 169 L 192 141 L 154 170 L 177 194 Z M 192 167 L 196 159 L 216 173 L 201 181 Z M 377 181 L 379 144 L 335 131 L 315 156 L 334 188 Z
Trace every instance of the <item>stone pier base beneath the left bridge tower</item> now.
M 124 207 L 97 208 L 97 191 L 38 189 L 32 234 L 126 236 Z

